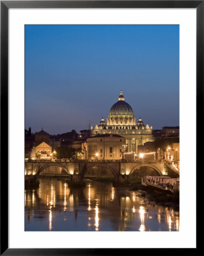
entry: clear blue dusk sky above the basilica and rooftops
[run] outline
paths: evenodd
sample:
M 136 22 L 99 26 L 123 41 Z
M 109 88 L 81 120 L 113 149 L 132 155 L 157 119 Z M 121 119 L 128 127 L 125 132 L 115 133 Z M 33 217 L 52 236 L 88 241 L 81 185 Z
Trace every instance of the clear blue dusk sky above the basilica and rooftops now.
M 49 134 L 105 121 L 120 89 L 153 129 L 179 125 L 179 26 L 26 25 L 25 126 Z

